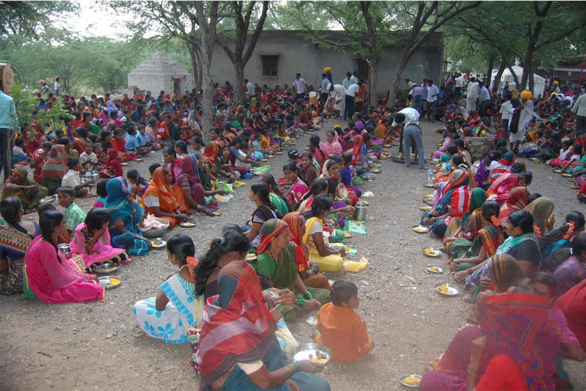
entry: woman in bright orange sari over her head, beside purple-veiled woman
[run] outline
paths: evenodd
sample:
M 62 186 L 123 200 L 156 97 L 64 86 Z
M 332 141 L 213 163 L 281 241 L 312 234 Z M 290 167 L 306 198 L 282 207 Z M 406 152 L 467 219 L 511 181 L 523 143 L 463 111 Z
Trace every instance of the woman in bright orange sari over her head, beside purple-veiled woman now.
M 158 167 L 152 173 L 151 183 L 141 199 L 145 213 L 151 213 L 161 219 L 169 220 L 169 228 L 175 227 L 178 222 L 189 221 L 185 213 L 189 209 L 185 207 L 185 196 L 179 186 L 171 191 L 173 177 L 168 169 Z M 179 197 L 179 199 L 178 199 Z

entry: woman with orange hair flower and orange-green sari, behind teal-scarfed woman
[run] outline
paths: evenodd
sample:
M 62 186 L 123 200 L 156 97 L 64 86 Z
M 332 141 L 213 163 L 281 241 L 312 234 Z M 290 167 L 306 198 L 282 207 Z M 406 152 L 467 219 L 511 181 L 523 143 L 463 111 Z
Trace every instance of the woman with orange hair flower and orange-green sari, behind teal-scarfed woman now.
M 498 226 L 499 204 L 487 200 L 482 204 L 482 227 L 478 230 L 473 242 L 459 238 L 452 242 L 449 253 L 452 261 L 449 270 L 461 271 L 476 266 L 496 253 L 503 243 L 503 234 Z M 496 223 L 496 225 L 495 225 Z

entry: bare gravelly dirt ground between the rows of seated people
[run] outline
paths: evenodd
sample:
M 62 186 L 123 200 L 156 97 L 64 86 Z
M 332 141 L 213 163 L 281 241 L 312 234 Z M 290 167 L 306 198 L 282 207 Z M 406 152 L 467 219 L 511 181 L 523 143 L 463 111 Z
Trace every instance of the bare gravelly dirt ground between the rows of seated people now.
M 323 130 L 342 124 L 330 120 Z M 429 156 L 440 138 L 439 125 L 422 122 L 425 155 Z M 308 137 L 297 141 L 298 149 Z M 396 151 L 393 147 L 393 152 Z M 283 154 L 270 159 L 270 173 L 278 178 L 287 160 Z M 149 178 L 148 166 L 160 162 L 161 155 L 148 155 L 144 162 L 126 168 L 138 168 Z M 576 199 L 570 182 L 553 174 L 548 166 L 526 160 L 533 171 L 530 192 L 552 198 L 558 223 L 570 210 L 584 206 Z M 369 198 L 364 236 L 355 234 L 345 240 L 359 249 L 353 259 L 364 256 L 369 266 L 360 273 L 349 273 L 348 280 L 359 286 L 360 307 L 357 313 L 366 321 L 375 349 L 356 363 L 330 363 L 319 373 L 332 390 L 400 389 L 398 378 L 406 373 L 421 375 L 428 362 L 440 355 L 456 334 L 456 325 L 466 321 L 470 305 L 462 294 L 442 297 L 435 293 L 437 283 L 450 283 L 449 273 L 431 274 L 426 266 L 447 268 L 447 256 L 425 257 L 421 249 L 440 241 L 417 234 L 411 226 L 419 222 L 423 187 L 427 171 L 417 165 L 407 168 L 391 160 L 382 161 L 381 174 L 373 182 L 364 182 Z M 252 181 L 246 181 L 250 184 Z M 94 199 L 78 200 L 90 209 Z M 59 206 L 58 206 L 59 208 Z M 176 227 L 166 236 L 186 233 L 196 243 L 201 256 L 210 241 L 226 223 L 244 223 L 253 210 L 248 200 L 248 186 L 236 189 L 234 199 L 221 204 L 221 216 L 197 216 L 197 227 Z M 36 214 L 25 219 L 37 219 Z M 122 285 L 107 290 L 103 302 L 49 304 L 21 301 L 20 295 L 1 296 L 0 300 L 0 389 L 60 390 L 193 390 L 198 378 L 188 364 L 189 344 L 171 345 L 150 338 L 138 328 L 132 307 L 138 300 L 158 294 L 158 285 L 174 268 L 164 250 L 154 250 L 124 264 L 117 275 Z M 313 327 L 299 319 L 289 325 L 297 341 L 311 342 Z M 575 389 L 586 389 L 584 363 L 564 361 L 574 379 Z

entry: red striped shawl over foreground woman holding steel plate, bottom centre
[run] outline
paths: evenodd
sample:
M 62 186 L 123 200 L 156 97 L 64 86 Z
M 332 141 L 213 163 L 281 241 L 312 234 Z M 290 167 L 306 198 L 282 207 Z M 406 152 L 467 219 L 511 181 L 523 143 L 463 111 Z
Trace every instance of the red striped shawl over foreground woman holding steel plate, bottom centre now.
M 274 343 L 275 320 L 264 305 L 253 267 L 233 261 L 220 270 L 219 295 L 207 299 L 196 361 L 200 390 L 226 375 L 237 362 L 265 359 Z

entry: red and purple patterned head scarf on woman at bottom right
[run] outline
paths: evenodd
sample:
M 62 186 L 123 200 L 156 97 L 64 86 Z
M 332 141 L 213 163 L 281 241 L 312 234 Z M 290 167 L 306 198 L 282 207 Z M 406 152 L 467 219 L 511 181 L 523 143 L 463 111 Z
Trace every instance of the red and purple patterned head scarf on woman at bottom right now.
M 544 297 L 509 293 L 478 302 L 478 320 L 486 349 L 515 361 L 529 390 L 554 389 L 560 327 L 547 313 Z

